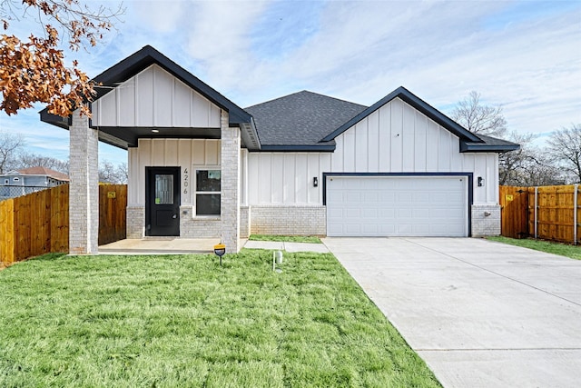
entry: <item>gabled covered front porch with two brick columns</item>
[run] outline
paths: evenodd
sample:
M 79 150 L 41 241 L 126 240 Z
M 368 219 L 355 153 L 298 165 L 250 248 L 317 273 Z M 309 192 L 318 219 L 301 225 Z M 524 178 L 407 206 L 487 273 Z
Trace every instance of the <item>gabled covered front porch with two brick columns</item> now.
M 243 154 L 260 148 L 250 114 L 151 46 L 94 81 L 91 118 L 41 113 L 70 131 L 70 253 L 110 248 L 97 243 L 99 141 L 129 152 L 130 239 L 114 249 L 205 251 L 198 244 L 209 239 L 238 252 L 248 230 L 241 227 L 248 218 L 241 215 Z

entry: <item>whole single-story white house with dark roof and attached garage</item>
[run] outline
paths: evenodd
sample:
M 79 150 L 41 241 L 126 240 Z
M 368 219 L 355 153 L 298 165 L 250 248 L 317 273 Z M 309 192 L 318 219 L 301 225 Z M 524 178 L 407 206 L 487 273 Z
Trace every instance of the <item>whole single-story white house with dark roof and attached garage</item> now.
M 71 252 L 95 253 L 97 142 L 129 150 L 127 236 L 499 234 L 498 153 L 399 87 L 371 106 L 307 91 L 245 109 L 151 46 L 94 78 L 71 132 Z

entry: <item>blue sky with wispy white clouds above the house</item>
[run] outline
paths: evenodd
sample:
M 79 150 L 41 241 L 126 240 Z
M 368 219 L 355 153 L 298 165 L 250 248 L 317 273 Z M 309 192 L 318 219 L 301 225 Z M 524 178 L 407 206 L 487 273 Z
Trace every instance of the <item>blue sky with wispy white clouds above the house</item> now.
M 242 107 L 300 90 L 369 105 L 403 85 L 445 114 L 478 91 L 484 104 L 503 106 L 508 128 L 519 133 L 546 137 L 581 123 L 581 1 L 124 6 L 116 31 L 67 59 L 94 76 L 153 45 Z M 8 32 L 36 28 L 23 19 Z M 32 152 L 65 159 L 68 132 L 41 123 L 42 108 L 0 113 L 0 129 L 24 134 Z M 100 159 L 120 163 L 126 153 L 103 145 Z

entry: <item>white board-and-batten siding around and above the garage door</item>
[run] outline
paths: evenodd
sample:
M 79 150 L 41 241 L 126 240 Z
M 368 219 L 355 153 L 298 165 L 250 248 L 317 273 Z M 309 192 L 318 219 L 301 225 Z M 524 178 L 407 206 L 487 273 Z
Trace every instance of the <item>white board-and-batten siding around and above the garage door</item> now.
M 335 141 L 334 153 L 250 153 L 249 204 L 322 204 L 323 173 L 473 173 L 474 204 L 498 203 L 497 154 L 460 154 L 456 135 L 399 98 Z

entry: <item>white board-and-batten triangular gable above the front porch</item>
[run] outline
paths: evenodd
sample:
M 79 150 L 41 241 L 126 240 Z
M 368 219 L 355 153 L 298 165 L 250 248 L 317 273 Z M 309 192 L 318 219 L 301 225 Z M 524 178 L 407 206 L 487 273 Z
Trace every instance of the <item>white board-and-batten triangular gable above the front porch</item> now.
M 220 107 L 151 65 L 93 103 L 93 124 L 220 128 Z

